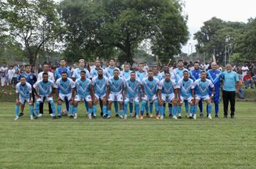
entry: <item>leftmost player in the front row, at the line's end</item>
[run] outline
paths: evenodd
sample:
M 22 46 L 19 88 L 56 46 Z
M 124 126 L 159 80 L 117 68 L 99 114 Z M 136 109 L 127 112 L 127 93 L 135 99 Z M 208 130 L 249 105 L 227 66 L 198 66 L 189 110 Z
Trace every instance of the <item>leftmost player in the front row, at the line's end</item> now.
M 30 110 L 30 120 L 34 120 L 33 117 L 33 100 L 32 100 L 32 86 L 26 82 L 25 77 L 19 77 L 19 83 L 16 85 L 16 93 L 17 93 L 17 101 L 15 107 L 15 114 L 16 117 L 14 120 L 19 119 L 19 105 L 23 105 L 27 101 L 29 103 L 29 110 Z

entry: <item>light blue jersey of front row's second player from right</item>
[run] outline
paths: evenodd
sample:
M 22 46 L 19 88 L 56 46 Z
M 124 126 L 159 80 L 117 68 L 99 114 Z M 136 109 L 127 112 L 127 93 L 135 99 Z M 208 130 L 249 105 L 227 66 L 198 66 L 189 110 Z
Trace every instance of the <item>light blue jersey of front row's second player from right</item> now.
M 192 92 L 194 88 L 193 79 L 188 78 L 188 81 L 180 79 L 178 81 L 177 88 L 180 89 L 180 96 L 184 98 L 192 97 Z

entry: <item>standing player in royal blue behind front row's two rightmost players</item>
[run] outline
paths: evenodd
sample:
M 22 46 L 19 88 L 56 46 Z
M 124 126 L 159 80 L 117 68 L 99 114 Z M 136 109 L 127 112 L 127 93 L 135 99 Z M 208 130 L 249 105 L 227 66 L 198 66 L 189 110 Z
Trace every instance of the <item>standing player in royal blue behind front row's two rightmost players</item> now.
M 197 79 L 201 79 L 202 70 L 199 69 L 200 68 L 199 62 L 194 62 L 193 67 L 194 67 L 194 69 L 189 72 L 189 75 L 190 75 L 191 79 L 193 79 L 193 82 L 195 82 Z M 198 102 L 198 107 L 199 107 L 199 110 L 200 110 L 200 117 L 204 117 L 202 100 L 200 100 Z

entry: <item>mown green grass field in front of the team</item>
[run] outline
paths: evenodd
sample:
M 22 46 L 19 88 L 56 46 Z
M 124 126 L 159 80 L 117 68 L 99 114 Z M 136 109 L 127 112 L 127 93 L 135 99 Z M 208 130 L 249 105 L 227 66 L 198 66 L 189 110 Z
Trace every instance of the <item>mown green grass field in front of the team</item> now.
M 255 102 L 237 102 L 234 120 L 222 105 L 212 120 L 52 120 L 45 110 L 33 121 L 27 107 L 14 121 L 14 103 L 0 106 L 0 168 L 256 168 Z

